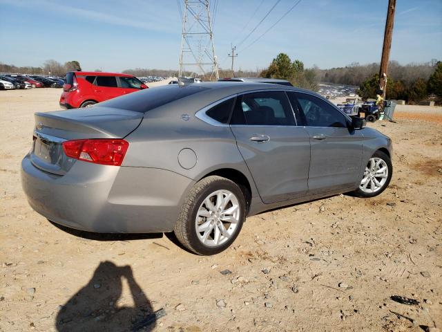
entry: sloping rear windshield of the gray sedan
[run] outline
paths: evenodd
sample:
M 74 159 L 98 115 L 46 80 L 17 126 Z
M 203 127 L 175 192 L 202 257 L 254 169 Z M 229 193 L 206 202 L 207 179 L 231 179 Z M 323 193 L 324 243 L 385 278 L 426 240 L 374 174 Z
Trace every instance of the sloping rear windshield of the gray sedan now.
M 135 112 L 146 113 L 169 102 L 199 93 L 209 88 L 198 86 L 198 84 L 180 86 L 177 84 L 168 84 L 157 86 L 151 89 L 145 89 L 139 92 L 124 95 L 119 98 L 102 102 L 104 107 L 113 107 L 115 109 L 128 109 Z

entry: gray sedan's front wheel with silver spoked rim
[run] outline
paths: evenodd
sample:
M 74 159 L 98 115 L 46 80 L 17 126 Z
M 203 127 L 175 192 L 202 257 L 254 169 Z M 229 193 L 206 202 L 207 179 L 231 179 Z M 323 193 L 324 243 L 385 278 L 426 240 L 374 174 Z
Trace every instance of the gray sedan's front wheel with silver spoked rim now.
M 368 160 L 361 184 L 354 194 L 359 197 L 374 197 L 387 188 L 392 179 L 393 166 L 390 157 L 383 151 L 376 151 Z

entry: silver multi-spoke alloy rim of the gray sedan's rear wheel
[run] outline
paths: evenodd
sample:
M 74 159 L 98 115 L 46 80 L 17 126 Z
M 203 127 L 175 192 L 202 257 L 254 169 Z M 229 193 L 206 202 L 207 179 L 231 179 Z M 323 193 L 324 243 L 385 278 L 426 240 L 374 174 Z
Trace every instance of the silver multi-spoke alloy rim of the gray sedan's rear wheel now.
M 240 203 L 229 190 L 216 190 L 198 209 L 195 228 L 204 246 L 221 246 L 235 234 L 240 222 Z

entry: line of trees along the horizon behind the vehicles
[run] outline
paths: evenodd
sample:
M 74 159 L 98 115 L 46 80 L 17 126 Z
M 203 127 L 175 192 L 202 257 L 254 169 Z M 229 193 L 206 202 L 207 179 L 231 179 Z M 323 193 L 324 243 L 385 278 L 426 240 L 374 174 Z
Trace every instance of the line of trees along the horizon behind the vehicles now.
M 14 66 L 0 62 L 0 73 L 23 73 L 64 76 L 68 71 L 81 71 L 78 61 L 64 64 L 49 59 L 42 66 Z M 99 70 L 95 70 L 99 71 Z M 359 86 L 358 94 L 362 98 L 374 98 L 378 89 L 379 64 L 359 64 L 320 69 L 317 66 L 305 68 L 302 61 L 292 61 L 285 53 L 280 53 L 264 70 L 235 71 L 236 77 L 273 77 L 288 80 L 294 86 L 315 90 L 318 82 Z M 126 69 L 123 73 L 135 76 L 177 76 L 177 71 L 149 68 Z M 227 69 L 220 69 L 220 77 L 231 77 Z M 187 73 L 190 75 L 190 73 Z M 209 80 L 209 76 L 202 77 Z M 212 77 L 213 79 L 213 77 Z M 442 104 L 442 62 L 432 59 L 421 64 L 402 65 L 391 61 L 388 67 L 387 99 L 402 99 L 408 103 L 416 103 L 430 98 Z

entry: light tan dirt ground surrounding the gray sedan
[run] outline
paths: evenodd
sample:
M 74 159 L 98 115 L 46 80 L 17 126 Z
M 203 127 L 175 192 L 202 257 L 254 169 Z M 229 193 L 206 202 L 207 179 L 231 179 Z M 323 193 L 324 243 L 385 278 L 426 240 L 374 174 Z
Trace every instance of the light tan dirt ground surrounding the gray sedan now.
M 0 91 L 0 331 L 442 328 L 441 108 L 368 124 L 394 141 L 381 196 L 253 216 L 231 248 L 199 257 L 162 234 L 71 234 L 29 207 L 19 170 L 33 113 L 59 109 L 60 93 Z M 153 311 L 165 315 L 148 325 Z

